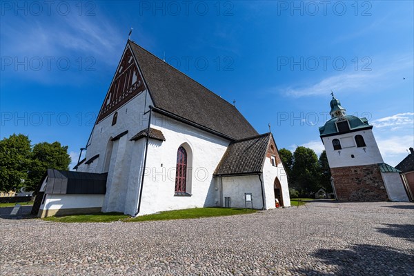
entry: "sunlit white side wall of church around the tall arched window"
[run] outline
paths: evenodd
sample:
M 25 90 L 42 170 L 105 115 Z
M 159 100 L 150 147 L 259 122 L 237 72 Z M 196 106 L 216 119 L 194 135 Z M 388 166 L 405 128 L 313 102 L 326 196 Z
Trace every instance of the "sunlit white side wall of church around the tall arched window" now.
M 152 113 L 151 127 L 161 130 L 166 141 L 150 139 L 139 215 L 162 210 L 217 206 L 213 172 L 230 141 L 178 121 Z M 190 197 L 175 196 L 177 150 L 184 144 L 188 160 Z M 132 186 L 130 186 L 132 189 Z M 189 189 L 190 188 L 190 189 Z

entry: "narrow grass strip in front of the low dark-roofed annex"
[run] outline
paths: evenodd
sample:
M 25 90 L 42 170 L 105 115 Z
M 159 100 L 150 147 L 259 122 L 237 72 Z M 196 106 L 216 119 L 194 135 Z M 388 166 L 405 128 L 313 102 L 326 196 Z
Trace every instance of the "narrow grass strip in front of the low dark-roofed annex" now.
M 55 222 L 112 222 L 128 218 L 122 213 L 96 213 L 90 215 L 68 215 L 63 217 L 44 217 L 43 220 Z

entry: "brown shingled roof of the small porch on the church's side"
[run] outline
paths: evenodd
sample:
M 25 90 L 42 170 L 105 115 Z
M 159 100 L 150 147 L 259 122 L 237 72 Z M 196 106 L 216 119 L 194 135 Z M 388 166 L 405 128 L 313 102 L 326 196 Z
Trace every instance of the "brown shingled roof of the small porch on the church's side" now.
M 271 134 L 266 133 L 230 143 L 214 175 L 248 175 L 262 172 L 270 137 Z

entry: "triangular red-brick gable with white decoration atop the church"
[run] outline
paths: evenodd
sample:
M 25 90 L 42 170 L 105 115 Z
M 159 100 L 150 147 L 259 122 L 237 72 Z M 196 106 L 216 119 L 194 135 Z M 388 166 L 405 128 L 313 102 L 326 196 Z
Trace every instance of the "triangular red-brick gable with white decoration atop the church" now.
M 145 89 L 135 57 L 132 55 L 130 47 L 127 46 L 117 72 L 115 72 L 115 77 L 110 84 L 105 101 L 103 101 L 97 123 Z

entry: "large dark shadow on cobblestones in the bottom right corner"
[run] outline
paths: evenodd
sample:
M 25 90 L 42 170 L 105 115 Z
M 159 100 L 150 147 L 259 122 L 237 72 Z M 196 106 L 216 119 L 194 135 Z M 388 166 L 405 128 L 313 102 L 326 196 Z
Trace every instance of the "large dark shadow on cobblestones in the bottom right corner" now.
M 413 255 L 386 246 L 355 244 L 348 249 L 319 249 L 313 253 L 326 265 L 335 266 L 335 275 L 413 275 Z M 305 275 L 332 275 L 317 270 L 299 270 Z

